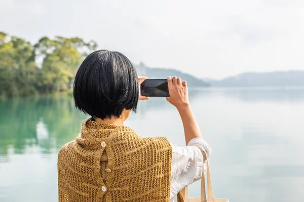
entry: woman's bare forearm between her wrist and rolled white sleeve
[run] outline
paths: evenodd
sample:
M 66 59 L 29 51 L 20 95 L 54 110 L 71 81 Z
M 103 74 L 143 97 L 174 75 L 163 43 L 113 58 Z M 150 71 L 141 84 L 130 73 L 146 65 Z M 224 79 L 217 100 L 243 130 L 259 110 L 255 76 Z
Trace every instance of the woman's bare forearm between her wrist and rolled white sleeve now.
M 183 106 L 177 107 L 177 110 L 178 110 L 179 115 L 182 120 L 184 133 L 185 133 L 186 145 L 193 138 L 202 137 L 200 128 L 198 126 L 198 123 L 196 122 L 196 119 L 194 117 L 190 104 L 187 103 L 187 104 L 184 104 Z

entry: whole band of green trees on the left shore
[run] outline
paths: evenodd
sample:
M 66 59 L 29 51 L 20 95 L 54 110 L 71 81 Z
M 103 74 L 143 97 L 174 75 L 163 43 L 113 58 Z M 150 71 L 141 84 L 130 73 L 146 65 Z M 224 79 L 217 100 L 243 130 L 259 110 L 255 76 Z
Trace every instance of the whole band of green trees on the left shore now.
M 36 44 L 0 32 L 0 96 L 66 91 L 83 59 L 97 47 L 81 38 L 41 38 Z

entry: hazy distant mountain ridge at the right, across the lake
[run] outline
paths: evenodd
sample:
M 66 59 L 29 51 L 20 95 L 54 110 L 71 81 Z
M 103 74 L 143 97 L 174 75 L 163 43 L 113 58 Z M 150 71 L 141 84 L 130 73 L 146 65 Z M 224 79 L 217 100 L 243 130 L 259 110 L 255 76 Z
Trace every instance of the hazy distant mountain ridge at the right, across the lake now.
M 209 79 L 214 87 L 304 86 L 304 71 L 244 73 L 222 80 Z

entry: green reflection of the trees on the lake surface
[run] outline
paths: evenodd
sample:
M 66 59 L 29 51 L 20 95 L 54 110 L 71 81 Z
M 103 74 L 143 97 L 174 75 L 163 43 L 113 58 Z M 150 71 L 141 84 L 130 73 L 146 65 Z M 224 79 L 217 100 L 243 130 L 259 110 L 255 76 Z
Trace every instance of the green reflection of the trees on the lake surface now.
M 39 145 L 52 153 L 79 133 L 85 115 L 76 111 L 69 96 L 43 96 L 0 100 L 0 155 L 15 154 L 26 146 Z

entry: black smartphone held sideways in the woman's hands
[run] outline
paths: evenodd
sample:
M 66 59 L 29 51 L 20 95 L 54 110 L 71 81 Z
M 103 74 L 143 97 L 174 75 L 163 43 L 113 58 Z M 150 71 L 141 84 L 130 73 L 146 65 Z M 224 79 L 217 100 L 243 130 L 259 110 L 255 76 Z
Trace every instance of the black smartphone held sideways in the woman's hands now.
M 140 84 L 140 95 L 147 97 L 169 97 L 167 79 L 146 79 Z

